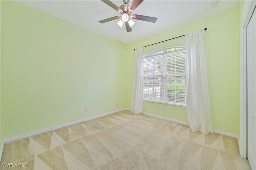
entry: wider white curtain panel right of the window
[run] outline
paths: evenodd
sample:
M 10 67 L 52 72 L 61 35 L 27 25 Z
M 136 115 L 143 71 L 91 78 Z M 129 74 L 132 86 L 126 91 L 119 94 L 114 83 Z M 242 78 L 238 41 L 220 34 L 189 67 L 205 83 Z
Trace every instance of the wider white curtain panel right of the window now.
M 186 105 L 192 132 L 213 133 L 204 55 L 204 30 L 186 35 Z

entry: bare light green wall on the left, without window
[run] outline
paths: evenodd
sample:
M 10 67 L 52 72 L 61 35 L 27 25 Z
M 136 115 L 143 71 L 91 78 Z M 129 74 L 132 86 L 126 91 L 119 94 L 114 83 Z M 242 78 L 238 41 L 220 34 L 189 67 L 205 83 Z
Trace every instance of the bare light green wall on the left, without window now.
M 1 146 L 6 138 L 126 106 L 120 42 L 1 1 L 1 45 Z

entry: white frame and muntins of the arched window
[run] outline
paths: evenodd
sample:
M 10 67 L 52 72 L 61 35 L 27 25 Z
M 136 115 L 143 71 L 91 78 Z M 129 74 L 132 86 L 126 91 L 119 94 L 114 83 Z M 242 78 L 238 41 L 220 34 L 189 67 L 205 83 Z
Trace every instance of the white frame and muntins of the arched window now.
M 170 53 L 169 51 L 167 51 L 167 49 L 172 49 L 172 48 L 179 48 L 179 47 L 183 47 L 183 49 L 176 49 L 172 52 L 178 52 L 178 51 L 185 51 L 186 53 L 186 46 L 185 45 L 179 45 L 179 46 L 172 46 L 172 47 L 164 47 L 164 48 L 161 48 L 161 49 L 157 49 L 157 50 L 154 50 L 154 51 L 151 51 L 150 53 L 147 53 L 146 55 L 143 55 L 142 57 L 142 89 L 144 89 L 144 78 L 145 77 L 163 77 L 164 79 L 164 83 L 163 83 L 163 91 L 164 91 L 164 96 L 163 96 L 163 99 L 162 101 L 160 100 L 156 100 L 156 99 L 145 99 L 144 98 L 144 91 L 142 90 L 142 99 L 143 101 L 147 101 L 147 102 L 153 102 L 153 103 L 161 103 L 161 104 L 166 104 L 166 105 L 176 105 L 176 106 L 181 106 L 181 107 L 186 107 L 186 90 L 185 90 L 185 103 L 177 103 L 177 102 L 168 102 L 168 77 L 170 76 L 174 76 L 174 77 L 178 77 L 178 76 L 184 76 L 184 79 L 185 79 L 185 68 L 184 68 L 184 73 L 180 73 L 180 74 L 167 74 L 167 56 L 166 54 Z M 164 55 L 164 74 L 163 75 L 152 75 L 152 76 L 144 76 L 144 65 L 143 65 L 143 59 L 146 58 L 146 57 L 149 57 L 150 54 L 152 53 L 156 53 L 158 51 L 163 51 L 162 53 L 160 53 L 161 55 Z M 154 56 L 154 55 L 152 55 Z M 156 56 L 156 55 L 155 55 Z M 184 82 L 184 86 L 185 86 L 185 82 Z M 186 89 L 186 86 L 185 86 L 185 89 Z M 176 97 L 175 97 L 176 99 Z

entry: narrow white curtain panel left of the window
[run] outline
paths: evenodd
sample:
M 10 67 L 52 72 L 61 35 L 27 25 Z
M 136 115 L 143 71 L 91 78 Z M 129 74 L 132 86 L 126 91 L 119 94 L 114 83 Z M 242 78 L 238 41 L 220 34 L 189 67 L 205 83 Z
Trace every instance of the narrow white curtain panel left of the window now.
M 143 112 L 143 101 L 142 101 L 142 55 L 143 48 L 140 47 L 135 51 L 135 69 L 133 79 L 133 90 L 132 90 L 132 104 L 130 113 L 134 115 L 142 114 Z

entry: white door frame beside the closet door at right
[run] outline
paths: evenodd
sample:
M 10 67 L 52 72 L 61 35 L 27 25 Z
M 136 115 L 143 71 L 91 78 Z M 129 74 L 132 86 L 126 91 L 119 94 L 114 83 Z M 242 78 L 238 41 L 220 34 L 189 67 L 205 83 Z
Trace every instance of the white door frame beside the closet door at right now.
M 245 3 L 245 2 L 244 2 Z M 244 18 L 241 24 L 241 51 L 240 51 L 240 155 L 247 158 L 247 37 L 246 28 L 256 7 L 256 1 L 247 1 Z

